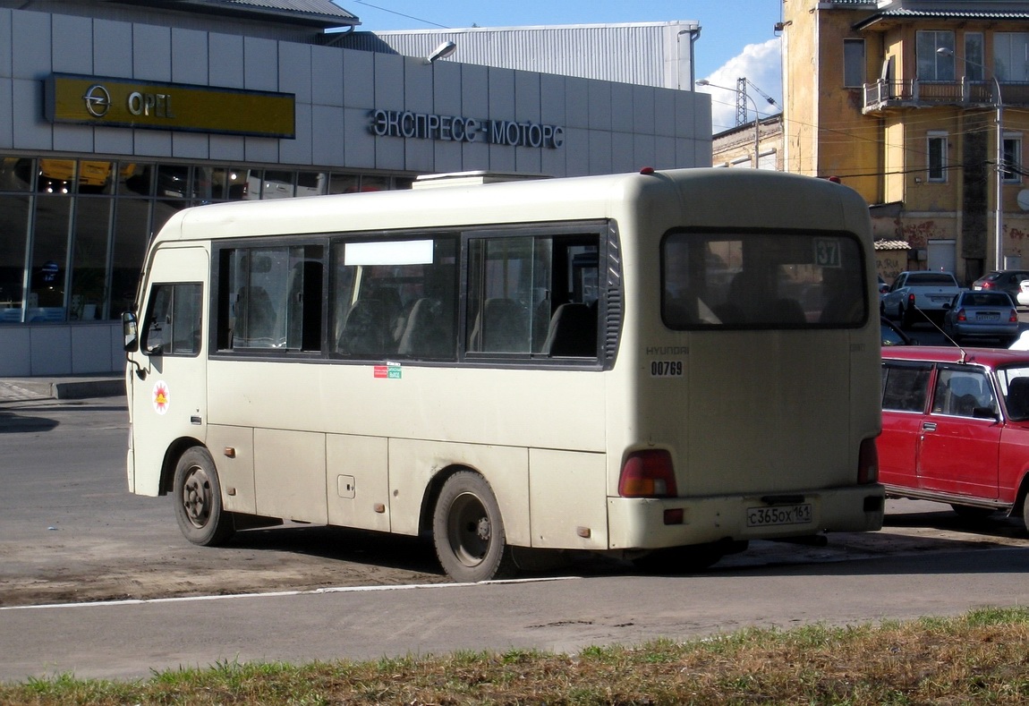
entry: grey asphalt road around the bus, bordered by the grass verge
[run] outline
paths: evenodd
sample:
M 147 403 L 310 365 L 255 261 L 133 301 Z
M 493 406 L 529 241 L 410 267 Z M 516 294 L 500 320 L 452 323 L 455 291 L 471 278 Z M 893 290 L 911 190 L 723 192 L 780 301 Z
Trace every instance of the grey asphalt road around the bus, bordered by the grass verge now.
M 459 586 L 431 546 L 332 528 L 186 542 L 168 498 L 125 490 L 118 399 L 0 407 L 0 679 L 143 678 L 216 662 L 684 639 L 1025 604 L 1029 537 L 1001 516 L 890 501 L 887 527 L 826 546 L 754 542 L 712 570 L 647 576 L 582 557 Z

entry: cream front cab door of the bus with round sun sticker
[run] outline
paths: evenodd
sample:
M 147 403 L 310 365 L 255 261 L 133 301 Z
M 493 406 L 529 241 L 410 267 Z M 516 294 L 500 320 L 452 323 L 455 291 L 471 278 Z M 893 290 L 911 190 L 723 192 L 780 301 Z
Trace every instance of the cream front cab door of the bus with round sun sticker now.
M 203 248 L 163 248 L 154 255 L 140 320 L 139 351 L 130 355 L 129 408 L 134 476 L 130 488 L 156 495 L 165 452 L 177 438 L 204 440 L 207 359 L 203 356 L 208 255 Z

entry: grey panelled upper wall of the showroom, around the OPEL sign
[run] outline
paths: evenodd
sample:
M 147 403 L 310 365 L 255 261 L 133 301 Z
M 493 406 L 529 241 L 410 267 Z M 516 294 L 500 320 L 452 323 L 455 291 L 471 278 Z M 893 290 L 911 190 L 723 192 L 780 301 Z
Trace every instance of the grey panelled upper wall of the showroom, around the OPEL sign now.
M 686 91 L 35 11 L 0 10 L 0 39 L 10 47 L 0 50 L 0 147 L 14 150 L 551 176 L 654 164 L 658 137 L 697 142 L 658 150 L 665 167 L 709 151 L 710 104 Z M 50 125 L 42 81 L 52 72 L 291 93 L 296 138 Z M 380 137 L 372 109 L 558 125 L 568 139 L 552 149 Z

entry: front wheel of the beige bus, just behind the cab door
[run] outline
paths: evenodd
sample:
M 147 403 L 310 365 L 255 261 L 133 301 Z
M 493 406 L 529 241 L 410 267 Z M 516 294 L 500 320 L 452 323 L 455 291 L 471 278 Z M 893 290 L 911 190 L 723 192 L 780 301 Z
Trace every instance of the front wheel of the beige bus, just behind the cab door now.
M 233 515 L 221 502 L 218 471 L 207 449 L 192 447 L 175 465 L 175 520 L 186 539 L 217 546 L 233 536 Z

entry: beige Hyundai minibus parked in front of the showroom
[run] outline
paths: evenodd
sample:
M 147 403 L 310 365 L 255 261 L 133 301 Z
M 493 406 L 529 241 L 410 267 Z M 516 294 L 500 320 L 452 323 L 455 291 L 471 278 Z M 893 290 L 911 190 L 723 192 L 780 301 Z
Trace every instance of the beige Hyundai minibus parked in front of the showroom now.
M 755 170 L 186 209 L 125 317 L 129 488 L 198 544 L 431 535 L 459 581 L 876 530 L 873 262 L 855 191 Z

